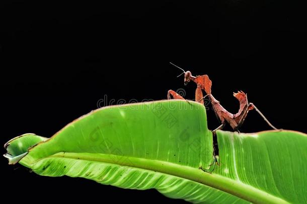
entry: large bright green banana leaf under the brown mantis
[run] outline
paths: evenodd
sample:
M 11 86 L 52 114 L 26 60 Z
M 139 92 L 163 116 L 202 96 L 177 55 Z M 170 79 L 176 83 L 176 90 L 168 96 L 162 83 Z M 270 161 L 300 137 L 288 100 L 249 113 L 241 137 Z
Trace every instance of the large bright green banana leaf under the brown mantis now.
M 156 188 L 201 203 L 307 203 L 307 137 L 295 131 L 212 132 L 203 105 L 167 100 L 110 106 L 74 120 L 50 139 L 24 134 L 5 147 L 43 176 L 92 179 L 121 188 Z M 212 166 L 211 166 L 212 169 Z

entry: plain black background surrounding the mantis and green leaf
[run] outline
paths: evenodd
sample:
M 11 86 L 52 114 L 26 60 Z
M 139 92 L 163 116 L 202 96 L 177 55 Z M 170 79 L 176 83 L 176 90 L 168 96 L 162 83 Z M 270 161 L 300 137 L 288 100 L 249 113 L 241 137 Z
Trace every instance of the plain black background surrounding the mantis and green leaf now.
M 101 1 L 102 2 L 102 1 Z M 97 102 L 161 100 L 183 88 L 179 69 L 209 75 L 230 112 L 243 90 L 278 128 L 307 132 L 304 117 L 306 22 L 302 5 L 281 1 L 55 3 L 0 6 L 1 143 L 34 132 L 51 137 Z M 209 128 L 218 125 L 209 110 Z M 270 127 L 251 111 L 241 128 Z M 225 128 L 230 130 L 229 127 Z M 5 153 L 5 150 L 2 151 Z M 35 203 L 170 201 L 156 190 L 128 190 L 69 177 L 43 177 L 2 162 L 2 200 Z

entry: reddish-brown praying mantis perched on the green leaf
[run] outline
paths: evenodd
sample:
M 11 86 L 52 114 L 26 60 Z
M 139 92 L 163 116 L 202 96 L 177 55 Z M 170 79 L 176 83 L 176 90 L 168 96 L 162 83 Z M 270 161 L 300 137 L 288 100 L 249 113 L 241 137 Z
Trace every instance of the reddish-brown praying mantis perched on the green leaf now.
M 212 104 L 212 108 L 215 112 L 216 117 L 221 122 L 221 125 L 215 128 L 213 130 L 213 133 L 215 133 L 215 131 L 218 129 L 222 129 L 225 126 L 226 122 L 229 123 L 229 125 L 231 125 L 231 127 L 234 130 L 239 131 L 239 128 L 243 124 L 248 112 L 253 109 L 255 109 L 262 116 L 262 118 L 268 123 L 268 125 L 270 125 L 273 129 L 277 129 L 269 122 L 269 120 L 260 112 L 260 110 L 253 103 L 248 102 L 247 95 L 243 91 L 238 91 L 237 93 L 234 93 L 234 97 L 236 97 L 240 103 L 240 108 L 239 108 L 238 113 L 232 114 L 228 112 L 223 106 L 221 106 L 219 101 L 217 101 L 211 94 L 212 82 L 209 79 L 208 75 L 194 77 L 192 76 L 190 71 L 185 72 L 179 66 L 173 64 L 172 62 L 170 63 L 183 71 L 181 75 L 184 74 L 184 84 L 185 85 L 187 85 L 187 83 L 190 81 L 196 83 L 197 88 L 195 92 L 195 101 L 201 104 L 204 104 L 204 99 L 208 97 L 210 103 Z M 181 75 L 179 75 L 178 77 L 180 77 Z M 203 96 L 202 90 L 206 92 L 205 96 Z M 185 100 L 182 96 L 177 94 L 175 91 L 169 90 L 168 99 L 171 99 L 172 97 L 174 99 Z

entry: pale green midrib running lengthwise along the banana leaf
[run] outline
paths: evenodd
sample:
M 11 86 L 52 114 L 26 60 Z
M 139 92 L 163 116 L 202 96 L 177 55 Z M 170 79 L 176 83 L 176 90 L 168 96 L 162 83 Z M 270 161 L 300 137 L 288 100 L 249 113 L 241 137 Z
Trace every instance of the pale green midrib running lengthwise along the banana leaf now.
M 160 172 L 192 180 L 197 183 L 204 184 L 222 190 L 224 192 L 236 195 L 242 199 L 248 200 L 253 203 L 289 203 L 282 198 L 271 195 L 268 192 L 247 185 L 241 181 L 233 180 L 218 174 L 209 174 L 197 168 L 183 166 L 166 161 L 150 160 L 144 158 L 127 157 L 127 156 L 111 155 L 111 154 L 59 152 L 54 155 L 50 155 L 42 159 L 36 160 L 34 162 L 31 162 L 30 165 L 32 166 L 36 162 L 46 158 L 67 158 L 75 160 L 86 160 L 92 162 L 102 162 L 102 163 L 109 163 L 120 166 L 132 167 L 132 168 L 139 168 L 143 170 L 151 170 L 155 172 Z M 24 161 L 26 162 L 27 159 Z

